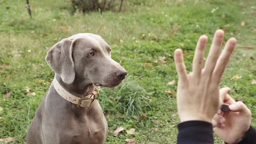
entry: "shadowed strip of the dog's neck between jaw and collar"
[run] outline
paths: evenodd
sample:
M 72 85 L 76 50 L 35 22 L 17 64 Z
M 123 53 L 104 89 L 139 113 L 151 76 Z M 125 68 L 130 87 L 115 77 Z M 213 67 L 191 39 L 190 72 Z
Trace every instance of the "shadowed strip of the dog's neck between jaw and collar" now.
M 75 78 L 72 84 L 66 84 L 57 74 L 55 75 L 55 77 L 63 88 L 65 88 L 68 92 L 79 98 L 87 96 L 95 90 L 95 85 L 92 83 L 86 84 L 84 83 L 84 81 Z

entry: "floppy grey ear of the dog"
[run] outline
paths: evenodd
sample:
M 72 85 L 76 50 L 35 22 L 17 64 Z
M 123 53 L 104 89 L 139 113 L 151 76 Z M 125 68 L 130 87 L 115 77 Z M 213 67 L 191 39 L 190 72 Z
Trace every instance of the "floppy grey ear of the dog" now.
M 75 65 L 72 58 L 75 41 L 74 39 L 62 39 L 52 46 L 45 57 L 48 65 L 66 84 L 71 84 L 75 79 Z

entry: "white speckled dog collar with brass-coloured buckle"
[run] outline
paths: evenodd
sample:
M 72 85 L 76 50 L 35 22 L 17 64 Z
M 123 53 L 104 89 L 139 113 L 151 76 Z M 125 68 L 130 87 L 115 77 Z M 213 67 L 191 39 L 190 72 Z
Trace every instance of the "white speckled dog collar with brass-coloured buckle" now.
M 56 80 L 55 76 L 53 79 L 53 86 L 54 86 L 55 90 L 58 92 L 58 94 L 60 94 L 60 96 L 62 96 L 62 98 L 64 98 L 65 100 L 68 100 L 69 102 L 71 102 L 73 104 L 76 104 L 78 108 L 79 107 L 89 107 L 90 108 L 94 99 L 98 99 L 100 96 L 100 94 L 99 94 L 100 88 L 95 88 L 93 93 L 89 94 L 88 96 L 84 96 L 83 98 L 74 96 L 73 94 L 71 94 L 70 92 L 65 90 L 60 85 L 60 83 Z M 96 98 L 96 95 L 97 95 L 97 98 Z

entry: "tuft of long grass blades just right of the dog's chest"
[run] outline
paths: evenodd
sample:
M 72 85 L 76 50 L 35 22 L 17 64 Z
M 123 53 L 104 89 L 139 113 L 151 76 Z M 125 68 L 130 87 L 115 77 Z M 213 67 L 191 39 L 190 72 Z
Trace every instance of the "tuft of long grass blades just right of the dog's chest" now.
M 138 118 L 147 108 L 150 108 L 147 100 L 144 99 L 148 93 L 131 77 L 126 78 L 116 88 L 102 88 L 100 96 L 100 105 L 104 112 Z

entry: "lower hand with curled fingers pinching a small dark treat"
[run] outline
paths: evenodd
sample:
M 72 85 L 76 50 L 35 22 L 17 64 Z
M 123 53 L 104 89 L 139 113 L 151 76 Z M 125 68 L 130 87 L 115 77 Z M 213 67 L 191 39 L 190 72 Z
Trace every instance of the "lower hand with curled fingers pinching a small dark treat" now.
M 212 119 L 213 130 L 222 140 L 228 144 L 234 144 L 244 138 L 250 128 L 251 111 L 242 102 L 236 102 L 226 95 L 224 104 L 229 104 L 230 112 L 218 110 Z

